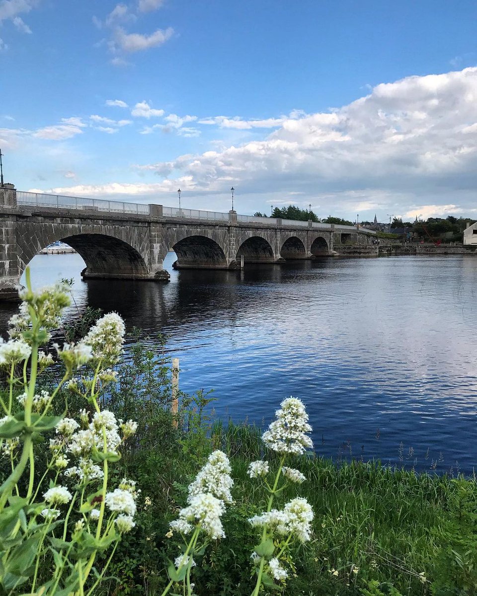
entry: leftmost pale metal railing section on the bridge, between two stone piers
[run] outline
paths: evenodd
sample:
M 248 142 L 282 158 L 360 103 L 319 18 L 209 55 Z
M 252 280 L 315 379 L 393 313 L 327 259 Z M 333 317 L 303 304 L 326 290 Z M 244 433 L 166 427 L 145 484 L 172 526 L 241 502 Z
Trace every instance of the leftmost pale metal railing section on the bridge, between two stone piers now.
M 64 209 L 86 209 L 114 213 L 137 213 L 149 215 L 149 206 L 144 203 L 107 201 L 100 198 L 67 197 L 61 194 L 28 193 L 17 190 L 17 205 L 30 207 L 57 207 Z

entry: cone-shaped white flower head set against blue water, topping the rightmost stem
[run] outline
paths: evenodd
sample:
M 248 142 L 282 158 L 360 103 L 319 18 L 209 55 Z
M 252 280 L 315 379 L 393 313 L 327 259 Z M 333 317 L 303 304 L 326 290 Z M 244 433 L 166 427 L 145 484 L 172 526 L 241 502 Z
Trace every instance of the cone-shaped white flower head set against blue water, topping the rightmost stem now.
M 280 454 L 302 454 L 312 448 L 313 443 L 306 433 L 311 431 L 305 405 L 296 398 L 287 398 L 281 402 L 281 408 L 275 412 L 274 420 L 262 435 L 265 445 Z

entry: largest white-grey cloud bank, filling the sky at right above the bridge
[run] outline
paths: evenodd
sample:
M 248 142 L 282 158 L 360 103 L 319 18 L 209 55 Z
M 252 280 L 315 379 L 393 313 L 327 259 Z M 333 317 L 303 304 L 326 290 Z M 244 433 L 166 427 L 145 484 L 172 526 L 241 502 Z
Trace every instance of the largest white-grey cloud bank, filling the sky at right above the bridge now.
M 260 140 L 180 156 L 155 171 L 190 176 L 203 193 L 220 193 L 230 181 L 242 197 L 264 201 L 305 191 L 324 215 L 339 209 L 348 217 L 371 209 L 425 214 L 428 206 L 432 213 L 450 206 L 462 212 L 475 206 L 476 100 L 477 67 L 410 76 L 326 113 L 280 117 L 281 125 Z M 278 119 L 210 120 L 261 128 L 254 123 Z

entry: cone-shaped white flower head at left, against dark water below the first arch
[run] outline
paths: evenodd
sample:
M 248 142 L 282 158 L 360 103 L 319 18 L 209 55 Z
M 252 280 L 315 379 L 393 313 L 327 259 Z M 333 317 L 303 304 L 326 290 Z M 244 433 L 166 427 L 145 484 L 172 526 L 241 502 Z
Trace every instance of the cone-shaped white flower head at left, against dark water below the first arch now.
M 122 355 L 125 330 L 123 319 L 116 312 L 110 312 L 98 319 L 80 343 L 91 346 L 95 361 L 112 367 Z

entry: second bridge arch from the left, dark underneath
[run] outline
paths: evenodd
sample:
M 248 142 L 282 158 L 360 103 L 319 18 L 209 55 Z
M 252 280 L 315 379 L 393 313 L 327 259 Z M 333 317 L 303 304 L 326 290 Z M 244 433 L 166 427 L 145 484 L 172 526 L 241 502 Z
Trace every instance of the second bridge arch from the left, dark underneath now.
M 185 236 L 172 245 L 177 255 L 175 269 L 225 269 L 228 267 L 225 252 L 215 240 L 194 234 Z

